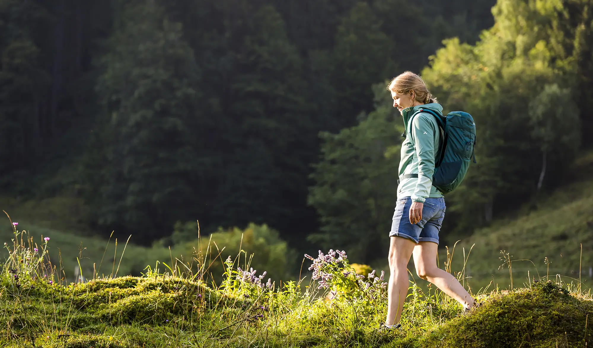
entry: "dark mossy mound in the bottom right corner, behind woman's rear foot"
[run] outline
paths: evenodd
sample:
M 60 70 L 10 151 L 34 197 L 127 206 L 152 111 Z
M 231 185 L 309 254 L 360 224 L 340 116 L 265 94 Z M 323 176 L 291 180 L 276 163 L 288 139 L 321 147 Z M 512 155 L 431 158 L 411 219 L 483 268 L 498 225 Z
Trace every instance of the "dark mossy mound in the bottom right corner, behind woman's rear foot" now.
M 591 339 L 588 317 L 593 318 L 593 301 L 579 300 L 552 282 L 537 282 L 531 289 L 492 295 L 407 346 L 584 347 Z

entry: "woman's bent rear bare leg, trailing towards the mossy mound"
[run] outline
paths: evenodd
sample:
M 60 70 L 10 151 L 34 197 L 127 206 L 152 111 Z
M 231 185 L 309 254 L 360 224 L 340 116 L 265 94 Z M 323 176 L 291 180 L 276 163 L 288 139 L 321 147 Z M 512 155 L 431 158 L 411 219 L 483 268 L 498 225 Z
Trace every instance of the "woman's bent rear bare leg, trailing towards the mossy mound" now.
M 413 251 L 416 274 L 456 299 L 464 308 L 473 307 L 474 299 L 459 281 L 451 273 L 439 269 L 436 265 L 437 248 L 438 244 L 433 242 L 420 242 L 416 245 Z

